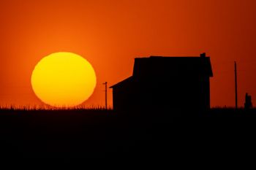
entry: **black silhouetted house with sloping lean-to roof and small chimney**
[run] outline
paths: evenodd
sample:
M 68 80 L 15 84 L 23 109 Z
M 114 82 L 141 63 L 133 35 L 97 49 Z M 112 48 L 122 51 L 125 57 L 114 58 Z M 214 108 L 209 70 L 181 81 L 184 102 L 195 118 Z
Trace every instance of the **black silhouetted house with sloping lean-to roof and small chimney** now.
M 211 61 L 200 57 L 135 58 L 132 77 L 113 88 L 113 109 L 208 109 Z

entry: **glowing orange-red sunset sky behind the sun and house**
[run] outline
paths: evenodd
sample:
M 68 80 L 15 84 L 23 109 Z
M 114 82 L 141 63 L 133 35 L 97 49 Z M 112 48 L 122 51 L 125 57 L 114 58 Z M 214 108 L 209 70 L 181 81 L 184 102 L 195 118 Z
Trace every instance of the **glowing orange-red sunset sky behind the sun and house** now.
M 50 53 L 78 53 L 91 62 L 97 88 L 85 105 L 104 104 L 104 85 L 132 74 L 134 58 L 211 56 L 211 106 L 256 104 L 255 0 L 1 0 L 0 104 L 40 104 L 31 72 Z M 109 90 L 109 101 L 112 100 Z

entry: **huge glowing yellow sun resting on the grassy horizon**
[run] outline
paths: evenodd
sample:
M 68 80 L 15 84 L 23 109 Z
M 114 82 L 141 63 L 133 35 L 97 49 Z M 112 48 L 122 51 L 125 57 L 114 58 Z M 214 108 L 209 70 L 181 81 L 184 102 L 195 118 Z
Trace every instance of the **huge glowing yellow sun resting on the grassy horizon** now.
M 52 53 L 31 74 L 36 96 L 53 107 L 75 107 L 86 101 L 97 84 L 94 68 L 75 53 Z

